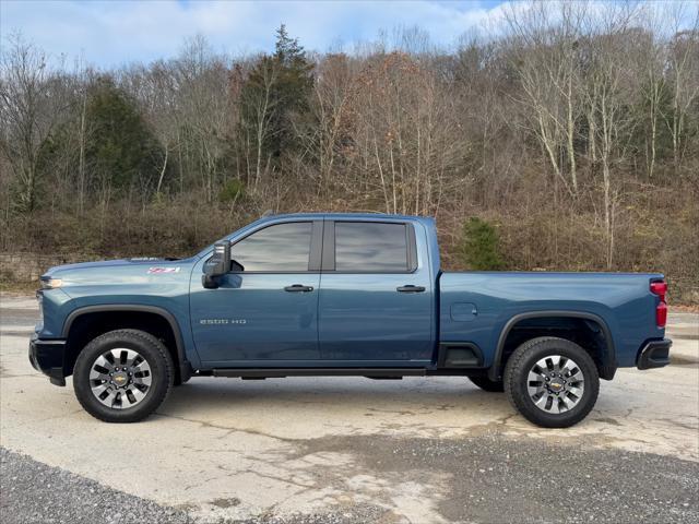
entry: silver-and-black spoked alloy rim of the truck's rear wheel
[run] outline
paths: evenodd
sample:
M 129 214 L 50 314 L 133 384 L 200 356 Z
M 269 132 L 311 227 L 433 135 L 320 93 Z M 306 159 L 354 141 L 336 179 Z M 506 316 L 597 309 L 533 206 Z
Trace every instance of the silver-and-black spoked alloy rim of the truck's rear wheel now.
M 570 358 L 552 355 L 537 360 L 529 371 L 526 389 L 534 405 L 546 413 L 572 409 L 585 389 L 580 367 Z

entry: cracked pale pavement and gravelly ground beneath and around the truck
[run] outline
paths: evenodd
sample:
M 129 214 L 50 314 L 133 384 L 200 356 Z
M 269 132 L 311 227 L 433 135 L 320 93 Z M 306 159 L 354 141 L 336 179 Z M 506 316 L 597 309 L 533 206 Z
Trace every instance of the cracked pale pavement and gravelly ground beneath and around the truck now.
M 0 305 L 3 522 L 44 522 L 27 500 L 70 508 L 92 481 L 177 522 L 699 517 L 697 314 L 671 314 L 673 366 L 619 370 L 569 429 L 536 428 L 463 378 L 194 378 L 147 420 L 107 425 L 70 380 L 52 386 L 29 366 L 34 300 Z M 56 522 L 91 522 L 72 515 Z

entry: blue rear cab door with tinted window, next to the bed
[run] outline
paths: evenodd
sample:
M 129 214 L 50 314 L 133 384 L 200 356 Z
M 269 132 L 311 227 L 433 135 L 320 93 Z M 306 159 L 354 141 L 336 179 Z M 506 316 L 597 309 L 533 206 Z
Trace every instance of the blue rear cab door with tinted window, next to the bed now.
M 411 222 L 325 221 L 321 358 L 336 367 L 425 366 L 433 355 L 426 238 Z

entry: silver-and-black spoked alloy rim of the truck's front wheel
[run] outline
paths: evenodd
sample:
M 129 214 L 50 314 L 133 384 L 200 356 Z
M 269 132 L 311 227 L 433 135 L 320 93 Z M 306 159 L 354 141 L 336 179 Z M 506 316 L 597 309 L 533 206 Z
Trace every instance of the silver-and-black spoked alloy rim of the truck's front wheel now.
M 90 388 L 105 406 L 125 409 L 139 404 L 151 389 L 152 373 L 147 360 L 127 348 L 109 349 L 90 368 Z

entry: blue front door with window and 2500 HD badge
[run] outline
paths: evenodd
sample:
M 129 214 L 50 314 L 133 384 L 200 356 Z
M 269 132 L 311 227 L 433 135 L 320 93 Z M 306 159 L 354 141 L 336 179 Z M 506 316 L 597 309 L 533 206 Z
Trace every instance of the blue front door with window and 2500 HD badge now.
M 234 239 L 217 289 L 192 274 L 192 333 L 210 367 L 293 367 L 319 359 L 322 221 L 283 222 Z M 318 253 L 315 257 L 311 253 Z

